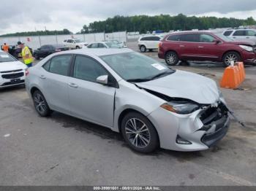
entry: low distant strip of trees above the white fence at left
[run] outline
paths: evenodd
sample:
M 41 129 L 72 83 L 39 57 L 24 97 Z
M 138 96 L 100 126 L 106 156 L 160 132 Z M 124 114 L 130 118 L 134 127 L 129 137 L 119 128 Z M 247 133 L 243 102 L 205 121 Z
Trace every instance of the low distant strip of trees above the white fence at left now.
M 42 36 L 42 35 L 56 35 L 56 34 L 72 34 L 71 31 L 64 28 L 62 31 L 27 31 L 13 34 L 3 34 L 1 36 Z

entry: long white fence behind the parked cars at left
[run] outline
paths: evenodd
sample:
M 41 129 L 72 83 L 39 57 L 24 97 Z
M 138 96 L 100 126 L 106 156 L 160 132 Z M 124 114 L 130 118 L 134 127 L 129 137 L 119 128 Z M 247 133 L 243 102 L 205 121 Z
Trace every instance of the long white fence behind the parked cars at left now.
M 64 39 L 78 38 L 85 42 L 100 42 L 105 40 L 116 39 L 121 42 L 127 42 L 127 32 L 115 32 L 110 34 L 95 33 L 95 34 L 69 34 L 69 35 L 47 35 L 47 36 L 13 36 L 0 37 L 0 44 L 7 43 L 15 45 L 18 41 L 24 42 L 33 50 L 41 47 L 44 44 L 61 44 Z

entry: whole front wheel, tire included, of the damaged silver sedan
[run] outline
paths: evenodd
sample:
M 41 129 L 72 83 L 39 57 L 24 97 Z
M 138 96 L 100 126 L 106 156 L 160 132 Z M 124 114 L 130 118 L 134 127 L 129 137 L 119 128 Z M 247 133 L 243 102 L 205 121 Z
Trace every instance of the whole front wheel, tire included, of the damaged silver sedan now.
M 137 152 L 149 153 L 159 147 L 157 130 L 143 114 L 130 112 L 125 115 L 121 133 L 129 147 Z

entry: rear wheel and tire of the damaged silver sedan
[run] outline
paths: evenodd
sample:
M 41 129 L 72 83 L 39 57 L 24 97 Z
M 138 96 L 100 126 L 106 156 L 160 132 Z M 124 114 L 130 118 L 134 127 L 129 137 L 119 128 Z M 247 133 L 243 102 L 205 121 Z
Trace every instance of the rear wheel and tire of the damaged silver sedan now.
M 50 108 L 45 100 L 44 95 L 39 90 L 33 93 L 34 108 L 41 117 L 47 117 L 50 115 Z M 40 105 L 39 105 L 40 104 Z

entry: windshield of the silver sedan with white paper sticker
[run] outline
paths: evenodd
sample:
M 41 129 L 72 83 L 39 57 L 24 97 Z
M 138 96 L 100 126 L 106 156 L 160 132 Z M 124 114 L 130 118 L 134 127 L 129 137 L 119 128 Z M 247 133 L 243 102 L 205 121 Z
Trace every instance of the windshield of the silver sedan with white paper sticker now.
M 125 52 L 116 55 L 103 55 L 102 58 L 116 73 L 127 81 L 148 81 L 162 74 L 173 73 L 174 70 L 158 63 L 138 52 Z

